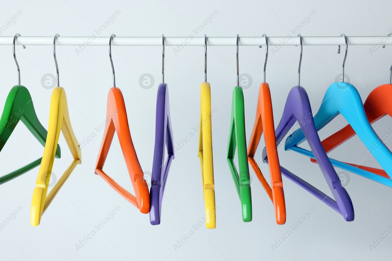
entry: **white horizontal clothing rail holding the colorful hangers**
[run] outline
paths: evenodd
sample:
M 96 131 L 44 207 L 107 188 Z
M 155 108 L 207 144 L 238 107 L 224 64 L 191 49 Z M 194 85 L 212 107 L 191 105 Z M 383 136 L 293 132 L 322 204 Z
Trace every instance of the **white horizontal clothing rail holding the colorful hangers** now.
M 269 45 L 299 45 L 299 37 L 268 37 Z M 16 45 L 53 45 L 54 36 L 18 36 Z M 110 37 L 58 36 L 56 45 L 109 45 Z M 392 36 L 347 36 L 348 45 L 392 45 Z M 12 45 L 14 36 L 0 36 L 0 45 Z M 303 36 L 303 45 L 345 45 L 343 36 Z M 112 45 L 160 46 L 162 37 L 114 37 Z M 166 46 L 204 46 L 204 37 L 165 37 Z M 236 37 L 208 37 L 207 45 L 236 46 Z M 265 45 L 264 37 L 241 37 L 239 45 Z

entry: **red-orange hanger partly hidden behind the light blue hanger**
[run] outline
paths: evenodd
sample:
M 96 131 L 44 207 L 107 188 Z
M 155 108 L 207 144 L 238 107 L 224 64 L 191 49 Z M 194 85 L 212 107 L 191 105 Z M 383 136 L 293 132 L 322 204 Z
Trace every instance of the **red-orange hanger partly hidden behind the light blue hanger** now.
M 392 116 L 392 107 L 390 106 L 390 101 L 392 99 L 391 87 L 392 87 L 392 66 L 390 67 L 390 72 L 389 72 L 389 84 L 380 85 L 374 90 L 372 90 L 372 92 L 370 92 L 370 94 L 368 95 L 365 103 L 363 104 L 363 108 L 365 109 L 365 113 L 370 124 L 373 124 L 374 122 L 383 118 L 387 114 Z M 355 135 L 356 135 L 355 131 L 350 126 L 350 124 L 348 124 L 341 130 L 330 135 L 327 139 L 323 140 L 321 144 L 323 144 L 325 152 L 328 153 L 329 151 L 332 151 L 333 149 L 337 148 L 338 146 L 343 144 L 345 141 L 351 139 Z M 373 149 L 377 149 L 377 148 L 378 145 L 373 147 Z M 314 159 L 311 160 L 312 162 L 316 162 L 316 160 Z M 372 167 L 361 166 L 361 165 L 346 163 L 346 162 L 344 163 L 356 167 L 354 172 L 356 174 L 359 174 L 358 172 L 361 172 L 361 169 L 363 169 L 372 172 L 374 174 L 377 174 L 379 176 L 383 176 L 385 178 L 390 179 L 390 176 L 388 176 L 388 174 L 383 169 L 376 169 Z

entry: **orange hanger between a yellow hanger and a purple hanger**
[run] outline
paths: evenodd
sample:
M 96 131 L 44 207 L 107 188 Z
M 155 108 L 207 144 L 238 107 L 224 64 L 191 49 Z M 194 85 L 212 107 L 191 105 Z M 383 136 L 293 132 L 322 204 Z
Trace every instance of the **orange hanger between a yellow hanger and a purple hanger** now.
M 116 35 L 112 34 L 109 39 L 109 58 L 113 70 L 113 88 L 110 88 L 109 94 L 107 95 L 106 119 L 109 121 L 109 124 L 105 124 L 105 131 L 103 131 L 102 143 L 98 151 L 98 158 L 95 167 L 95 174 L 103 178 L 103 180 L 117 191 L 118 194 L 137 207 L 140 212 L 147 214 L 150 210 L 148 185 L 143 178 L 144 175 L 142 167 L 140 167 L 140 163 L 132 143 L 124 97 L 121 90 L 116 87 L 111 48 L 114 36 Z M 121 150 L 125 159 L 125 164 L 127 164 L 135 196 L 120 186 L 113 180 L 113 178 L 102 170 L 114 137 L 114 132 L 117 132 L 118 140 L 120 141 Z

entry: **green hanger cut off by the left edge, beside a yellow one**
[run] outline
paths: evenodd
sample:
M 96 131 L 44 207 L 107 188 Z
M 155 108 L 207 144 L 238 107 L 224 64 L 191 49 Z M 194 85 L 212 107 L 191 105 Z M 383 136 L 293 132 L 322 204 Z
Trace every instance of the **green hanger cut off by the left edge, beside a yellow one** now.
M 4 110 L 0 119 L 0 151 L 4 148 L 5 143 L 19 121 L 22 121 L 25 124 L 27 129 L 33 133 L 34 137 L 42 146 L 45 146 L 47 136 L 46 129 L 38 120 L 33 105 L 33 99 L 31 99 L 29 91 L 25 86 L 20 85 L 20 69 L 15 54 L 15 40 L 18 36 L 20 36 L 20 34 L 15 34 L 13 41 L 13 54 L 16 67 L 18 68 L 18 85 L 12 87 L 5 100 Z M 60 146 L 57 146 L 55 157 L 60 158 L 60 156 Z M 42 158 L 38 158 L 20 169 L 0 177 L 0 185 L 34 169 L 41 164 L 41 160 Z

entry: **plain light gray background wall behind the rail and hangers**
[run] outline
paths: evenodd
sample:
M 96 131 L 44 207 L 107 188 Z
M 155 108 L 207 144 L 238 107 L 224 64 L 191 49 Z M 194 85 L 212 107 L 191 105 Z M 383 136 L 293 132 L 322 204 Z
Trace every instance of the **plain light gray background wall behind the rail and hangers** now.
M 176 0 L 138 1 L 43 1 L 25 0 L 2 2 L 0 25 L 18 10 L 23 14 L 2 35 L 13 36 L 90 36 L 116 10 L 121 14 L 101 36 L 188 36 L 217 10 L 219 14 L 201 32 L 201 36 L 287 36 L 291 29 L 315 10 L 317 14 L 305 25 L 302 36 L 381 36 L 392 30 L 389 1 L 318 0 L 318 1 L 197 1 Z M 292 34 L 293 35 L 293 34 Z M 200 35 L 199 35 L 200 36 Z M 219 112 L 212 119 L 214 147 L 214 176 L 216 229 L 195 231 L 204 216 L 200 162 L 198 158 L 198 126 L 200 83 L 204 73 L 203 47 L 188 46 L 175 55 L 173 47 L 166 48 L 165 82 L 169 85 L 170 110 L 174 143 L 189 133 L 191 139 L 172 162 L 163 200 L 162 223 L 150 225 L 148 214 L 141 214 L 126 202 L 102 178 L 94 175 L 96 156 L 102 132 L 94 130 L 105 120 L 107 92 L 113 85 L 112 72 L 105 46 L 89 46 L 79 55 L 74 46 L 58 46 L 60 86 L 67 93 L 69 113 L 77 139 L 82 142 L 91 133 L 95 137 L 82 151 L 82 164 L 73 171 L 60 193 L 42 217 L 38 227 L 30 225 L 31 195 L 38 168 L 1 186 L 0 222 L 17 209 L 23 210 L 0 231 L 1 260 L 386 260 L 392 253 L 392 236 L 377 248 L 369 244 L 385 233 L 392 232 L 391 189 L 354 174 L 347 186 L 355 209 L 355 220 L 346 222 L 338 213 L 320 202 L 298 185 L 283 177 L 287 222 L 277 225 L 274 209 L 260 182 L 252 183 L 253 220 L 244 223 L 240 200 L 225 160 L 230 124 L 232 88 L 236 85 L 235 47 L 209 47 L 208 75 L 211 83 L 212 108 Z M 370 46 L 349 46 L 346 74 L 358 88 L 362 99 L 375 87 L 388 83 L 392 63 L 392 47 L 371 55 Z M 43 88 L 41 77 L 55 74 L 52 46 L 16 47 L 21 69 L 21 83 L 33 96 L 37 115 L 46 127 L 49 118 L 51 90 Z M 297 84 L 299 47 L 286 46 L 272 53 L 267 64 L 277 125 L 287 94 Z M 301 85 L 309 94 L 312 108 L 318 109 L 327 87 L 341 73 L 343 54 L 337 46 L 303 47 Z M 252 76 L 253 85 L 244 90 L 246 134 L 249 139 L 256 110 L 258 86 L 262 82 L 265 49 L 240 46 L 240 74 Z M 0 104 L 12 86 L 17 84 L 12 47 L 0 47 L 2 90 Z M 127 101 L 129 126 L 140 164 L 151 171 L 154 150 L 156 90 L 160 83 L 161 47 L 113 47 L 117 86 Z M 149 73 L 155 85 L 145 90 L 139 77 Z M 328 137 L 347 123 L 341 115 L 319 131 L 321 139 Z M 389 116 L 376 122 L 374 129 L 380 137 L 391 133 Z M 71 154 L 63 136 L 59 144 L 62 158 L 54 162 L 57 179 L 70 163 Z M 263 139 L 256 159 L 261 160 Z M 392 148 L 392 139 L 387 146 Z M 307 144 L 303 147 L 309 148 Z M 18 124 L 0 155 L 4 175 L 42 156 L 44 148 L 23 124 Z M 115 136 L 105 164 L 105 171 L 119 184 L 133 192 Z M 379 167 L 370 152 L 354 137 L 330 153 L 331 157 L 352 163 Z M 304 178 L 325 193 L 330 190 L 317 164 L 293 151 L 279 150 L 282 166 Z M 261 170 L 269 180 L 266 164 Z M 336 169 L 337 172 L 341 171 Z M 105 227 L 79 249 L 83 236 L 94 229 L 116 206 L 121 210 Z M 311 209 L 317 207 L 310 220 L 294 231 L 279 248 L 272 249 L 275 240 Z M 194 230 L 181 248 L 174 244 Z M 292 230 L 293 231 L 293 230 Z M 283 242 L 283 241 L 282 241 Z

